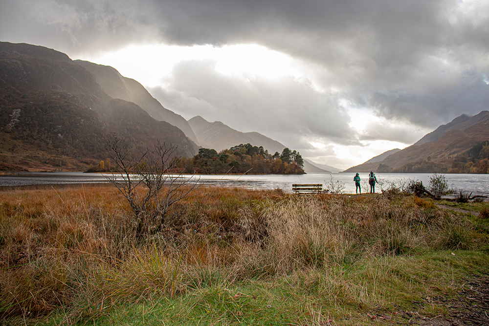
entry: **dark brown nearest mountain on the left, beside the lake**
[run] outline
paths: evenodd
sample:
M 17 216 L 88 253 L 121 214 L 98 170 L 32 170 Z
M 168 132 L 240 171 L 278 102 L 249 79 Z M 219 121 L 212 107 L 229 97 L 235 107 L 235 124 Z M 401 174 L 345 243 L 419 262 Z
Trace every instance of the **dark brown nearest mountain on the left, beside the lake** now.
M 0 108 L 0 163 L 9 166 L 84 170 L 108 157 L 114 134 L 134 151 L 160 141 L 180 156 L 198 152 L 182 130 L 113 98 L 82 65 L 43 46 L 0 42 Z

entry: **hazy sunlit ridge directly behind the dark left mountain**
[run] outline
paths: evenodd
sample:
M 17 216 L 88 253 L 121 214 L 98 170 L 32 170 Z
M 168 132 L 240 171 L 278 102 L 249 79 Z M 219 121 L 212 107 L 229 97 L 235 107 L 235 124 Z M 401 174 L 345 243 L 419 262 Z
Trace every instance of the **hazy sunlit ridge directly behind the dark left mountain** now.
M 165 109 L 151 94 L 137 81 L 122 76 L 116 69 L 107 65 L 97 65 L 88 61 L 74 60 L 74 64 L 87 69 L 97 83 L 109 96 L 137 104 L 157 121 L 166 121 L 178 127 L 187 137 L 198 143 L 192 128 L 181 115 Z

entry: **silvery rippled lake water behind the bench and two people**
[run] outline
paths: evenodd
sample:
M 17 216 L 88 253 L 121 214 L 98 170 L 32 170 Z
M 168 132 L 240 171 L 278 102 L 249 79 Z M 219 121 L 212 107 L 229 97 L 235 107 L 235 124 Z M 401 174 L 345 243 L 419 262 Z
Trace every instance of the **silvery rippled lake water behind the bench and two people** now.
M 399 185 L 406 180 L 420 180 L 423 185 L 429 184 L 432 174 L 376 174 L 378 181 L 385 188 L 389 182 Z M 489 193 L 489 174 L 444 174 L 450 188 L 473 192 L 474 194 Z M 294 183 L 321 183 L 324 188 L 331 188 L 331 183 L 344 184 L 343 193 L 355 193 L 354 173 L 311 173 L 302 175 L 184 175 L 185 179 L 198 180 L 200 184 L 224 187 L 245 187 L 249 189 L 277 189 L 285 192 L 292 191 Z M 368 173 L 361 173 L 362 185 Z M 87 184 L 108 182 L 104 174 L 81 172 L 50 172 L 50 173 L 19 173 L 15 175 L 0 175 L 0 187 L 16 187 L 30 185 L 50 184 Z M 381 185 L 376 185 L 376 192 L 380 192 Z M 364 189 L 362 187 L 362 192 Z

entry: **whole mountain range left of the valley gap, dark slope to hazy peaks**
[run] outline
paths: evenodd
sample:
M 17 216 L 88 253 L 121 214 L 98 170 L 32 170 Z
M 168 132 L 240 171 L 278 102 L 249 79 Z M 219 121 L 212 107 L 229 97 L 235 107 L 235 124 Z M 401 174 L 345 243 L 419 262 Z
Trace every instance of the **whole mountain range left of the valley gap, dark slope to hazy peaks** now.
M 113 135 L 138 151 L 156 141 L 177 145 L 176 154 L 187 157 L 199 146 L 219 152 L 249 143 L 270 154 L 286 148 L 200 116 L 187 122 L 116 69 L 43 46 L 0 42 L 0 85 L 0 170 L 85 170 L 107 158 Z M 304 164 L 309 173 L 339 171 Z

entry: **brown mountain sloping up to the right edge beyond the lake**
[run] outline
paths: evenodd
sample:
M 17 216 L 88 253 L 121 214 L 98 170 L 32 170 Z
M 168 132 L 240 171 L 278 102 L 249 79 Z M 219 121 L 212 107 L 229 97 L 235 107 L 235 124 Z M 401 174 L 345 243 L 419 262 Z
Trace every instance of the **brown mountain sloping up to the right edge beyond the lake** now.
M 420 160 L 451 164 L 450 160 L 453 160 L 456 155 L 464 154 L 474 145 L 489 140 L 489 111 L 482 111 L 473 117 L 461 115 L 423 138 L 424 142 L 417 142 L 392 153 L 382 161 L 369 163 L 367 161 L 344 172 L 377 171 L 380 164 L 398 169 L 405 164 Z M 434 140 L 426 141 L 430 139 Z

